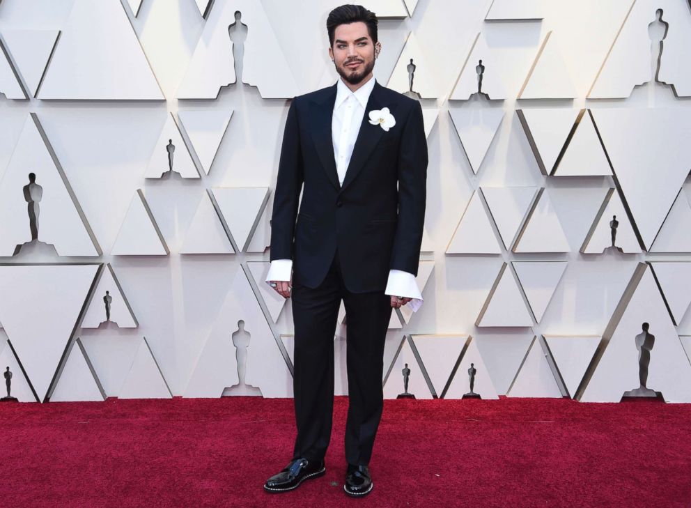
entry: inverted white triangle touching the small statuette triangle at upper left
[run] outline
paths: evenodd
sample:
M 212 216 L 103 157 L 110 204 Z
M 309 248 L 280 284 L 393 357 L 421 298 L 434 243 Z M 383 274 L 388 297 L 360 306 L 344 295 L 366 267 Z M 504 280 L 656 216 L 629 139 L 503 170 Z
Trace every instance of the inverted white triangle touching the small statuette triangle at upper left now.
M 178 111 L 180 123 L 187 132 L 187 137 L 192 142 L 194 152 L 206 174 L 211 170 L 231 116 L 232 109 Z

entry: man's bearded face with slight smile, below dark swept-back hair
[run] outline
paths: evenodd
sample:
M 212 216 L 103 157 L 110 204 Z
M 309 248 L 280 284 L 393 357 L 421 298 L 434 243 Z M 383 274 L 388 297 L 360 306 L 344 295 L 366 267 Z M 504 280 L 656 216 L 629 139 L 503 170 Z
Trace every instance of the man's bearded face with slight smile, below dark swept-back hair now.
M 378 46 L 379 47 L 379 46 Z M 334 31 L 334 45 L 329 47 L 336 72 L 343 81 L 358 84 L 372 74 L 375 44 L 363 22 L 341 24 Z

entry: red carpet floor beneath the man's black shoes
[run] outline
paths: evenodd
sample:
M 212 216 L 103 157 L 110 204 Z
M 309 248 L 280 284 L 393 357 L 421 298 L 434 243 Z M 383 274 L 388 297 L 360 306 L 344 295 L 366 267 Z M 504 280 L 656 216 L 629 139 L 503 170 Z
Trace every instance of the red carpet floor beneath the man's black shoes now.
M 343 493 L 348 399 L 327 474 L 268 494 L 293 400 L 0 404 L 3 507 L 690 507 L 691 406 L 386 401 L 374 490 Z

